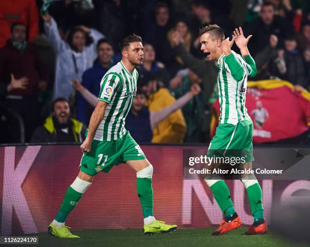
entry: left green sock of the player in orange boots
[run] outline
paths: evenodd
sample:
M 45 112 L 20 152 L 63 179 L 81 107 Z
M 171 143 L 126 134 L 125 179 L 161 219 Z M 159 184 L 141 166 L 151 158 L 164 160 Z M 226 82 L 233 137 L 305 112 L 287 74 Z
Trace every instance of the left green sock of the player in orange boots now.
M 229 207 L 234 208 L 228 187 L 223 180 L 217 181 L 215 184 L 211 185 L 210 189 L 223 214 L 225 214 L 225 211 Z

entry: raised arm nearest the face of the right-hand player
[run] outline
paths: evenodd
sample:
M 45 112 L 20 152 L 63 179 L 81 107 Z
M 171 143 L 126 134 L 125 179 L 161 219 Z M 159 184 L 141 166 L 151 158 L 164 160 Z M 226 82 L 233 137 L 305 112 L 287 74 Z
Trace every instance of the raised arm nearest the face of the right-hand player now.
M 225 64 L 227 64 L 229 72 L 235 80 L 240 81 L 243 78 L 243 67 L 238 58 L 236 58 L 230 50 L 230 47 L 232 46 L 232 43 L 234 43 L 236 38 L 237 36 L 233 36 L 230 41 L 229 37 L 224 39 L 221 42 L 221 48 L 225 54 Z M 224 69 L 225 64 L 223 64 Z

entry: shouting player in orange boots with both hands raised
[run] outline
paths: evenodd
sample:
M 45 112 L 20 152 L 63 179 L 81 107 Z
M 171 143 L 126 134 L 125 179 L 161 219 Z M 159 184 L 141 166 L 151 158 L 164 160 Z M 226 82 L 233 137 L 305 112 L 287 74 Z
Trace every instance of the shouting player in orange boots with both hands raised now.
M 231 40 L 225 39 L 223 30 L 218 25 L 208 25 L 200 30 L 201 50 L 210 60 L 216 59 L 219 65 L 217 78 L 220 117 L 215 136 L 210 142 L 209 150 L 246 150 L 250 155 L 246 157 L 244 168 L 251 168 L 253 159 L 252 132 L 253 123 L 245 107 L 248 76 L 256 74 L 256 65 L 251 57 L 247 44 L 252 35 L 244 37 L 242 28 L 236 28 Z M 236 40 L 241 55 L 230 48 Z M 221 179 L 205 178 L 216 202 L 225 215 L 212 235 L 221 235 L 241 226 L 242 221 L 235 212 L 227 185 Z M 254 217 L 253 225 L 245 234 L 264 234 L 267 226 L 263 218 L 262 192 L 254 175 L 242 176 L 245 185 L 251 213 Z

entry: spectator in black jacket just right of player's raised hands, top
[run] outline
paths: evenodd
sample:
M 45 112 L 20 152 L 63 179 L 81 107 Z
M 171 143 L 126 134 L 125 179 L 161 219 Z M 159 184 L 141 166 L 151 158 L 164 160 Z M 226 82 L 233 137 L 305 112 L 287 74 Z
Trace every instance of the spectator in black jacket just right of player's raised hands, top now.
M 245 33 L 253 34 L 249 42 L 249 50 L 254 56 L 269 44 L 271 34 L 277 35 L 278 46 L 283 48 L 284 37 L 293 35 L 293 24 L 281 16 L 275 15 L 275 7 L 270 3 L 264 3 L 261 8 L 260 18 L 249 23 Z

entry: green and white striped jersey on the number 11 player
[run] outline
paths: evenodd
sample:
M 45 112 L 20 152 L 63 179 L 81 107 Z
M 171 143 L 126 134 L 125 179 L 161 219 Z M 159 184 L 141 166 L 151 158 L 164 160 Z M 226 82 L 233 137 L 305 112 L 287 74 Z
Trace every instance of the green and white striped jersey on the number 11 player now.
M 98 100 L 109 104 L 94 140 L 112 141 L 125 135 L 125 118 L 136 95 L 137 79 L 137 70 L 135 69 L 132 74 L 129 73 L 122 61 L 105 73 L 100 83 Z

